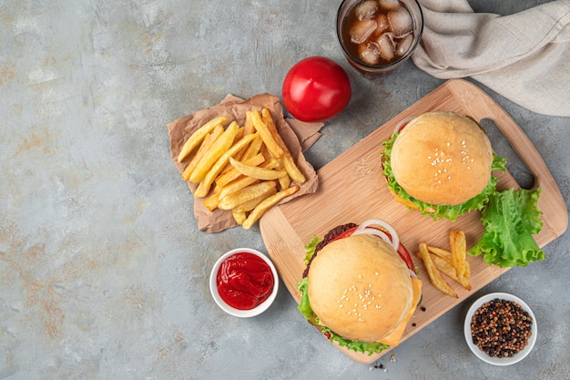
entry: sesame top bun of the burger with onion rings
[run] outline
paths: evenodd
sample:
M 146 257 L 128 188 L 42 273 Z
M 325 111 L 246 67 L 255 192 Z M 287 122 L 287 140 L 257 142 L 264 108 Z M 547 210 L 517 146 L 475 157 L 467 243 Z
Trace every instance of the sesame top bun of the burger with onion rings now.
M 392 246 L 371 235 L 331 241 L 310 264 L 310 307 L 336 334 L 376 342 L 412 307 L 412 280 Z

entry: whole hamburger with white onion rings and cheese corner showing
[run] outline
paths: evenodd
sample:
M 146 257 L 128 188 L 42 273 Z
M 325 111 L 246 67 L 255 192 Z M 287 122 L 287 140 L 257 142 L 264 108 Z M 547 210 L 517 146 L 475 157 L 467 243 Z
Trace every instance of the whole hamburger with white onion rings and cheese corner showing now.
M 422 282 L 392 227 L 379 220 L 344 224 L 306 248 L 298 308 L 309 323 L 355 352 L 400 344 Z

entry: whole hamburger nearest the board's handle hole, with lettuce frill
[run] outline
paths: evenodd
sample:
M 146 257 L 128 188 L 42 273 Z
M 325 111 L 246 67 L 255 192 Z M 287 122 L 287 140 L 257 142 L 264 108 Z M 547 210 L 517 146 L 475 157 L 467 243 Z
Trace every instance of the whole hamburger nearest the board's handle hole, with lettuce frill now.
M 455 112 L 424 113 L 382 143 L 383 175 L 394 198 L 434 220 L 481 211 L 505 170 L 483 128 Z

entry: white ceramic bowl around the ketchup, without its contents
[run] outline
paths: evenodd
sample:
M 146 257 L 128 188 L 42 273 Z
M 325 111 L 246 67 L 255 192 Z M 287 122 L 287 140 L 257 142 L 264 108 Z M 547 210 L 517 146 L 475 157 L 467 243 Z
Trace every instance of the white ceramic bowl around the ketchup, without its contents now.
M 258 306 L 249 310 L 239 310 L 236 309 L 235 307 L 230 306 L 228 303 L 225 303 L 224 300 L 222 300 L 222 298 L 219 296 L 218 283 L 216 282 L 216 277 L 218 276 L 219 266 L 221 265 L 221 263 L 224 262 L 224 260 L 226 260 L 227 258 L 229 258 L 229 256 L 232 256 L 239 252 L 253 253 L 256 256 L 259 256 L 261 259 L 267 262 L 267 264 L 271 268 L 271 272 L 273 273 L 273 280 L 274 280 L 273 291 L 271 292 L 270 296 L 263 303 L 260 303 Z M 224 312 L 240 318 L 249 318 L 265 312 L 270 307 L 271 303 L 273 303 L 273 301 L 275 300 L 278 291 L 279 291 L 279 275 L 277 273 L 277 270 L 275 269 L 275 265 L 273 265 L 273 262 L 270 261 L 269 257 L 251 248 L 236 248 L 235 250 L 231 250 L 229 252 L 224 253 L 214 264 L 212 272 L 210 272 L 209 274 L 209 292 L 212 294 L 214 301 Z

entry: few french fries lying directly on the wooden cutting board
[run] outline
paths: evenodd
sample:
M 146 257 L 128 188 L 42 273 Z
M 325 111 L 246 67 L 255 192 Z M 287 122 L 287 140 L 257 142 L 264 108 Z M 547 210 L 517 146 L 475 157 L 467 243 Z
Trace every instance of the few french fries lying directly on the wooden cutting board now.
M 445 281 L 442 273 L 470 291 L 471 282 L 469 282 L 469 277 L 471 276 L 471 268 L 469 262 L 465 260 L 467 252 L 465 233 L 463 231 L 450 231 L 449 241 L 451 252 L 433 247 L 422 241 L 419 247 L 420 252 L 417 252 L 415 256 L 422 259 L 433 286 L 441 292 L 457 298 L 457 293 Z

